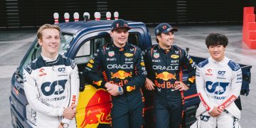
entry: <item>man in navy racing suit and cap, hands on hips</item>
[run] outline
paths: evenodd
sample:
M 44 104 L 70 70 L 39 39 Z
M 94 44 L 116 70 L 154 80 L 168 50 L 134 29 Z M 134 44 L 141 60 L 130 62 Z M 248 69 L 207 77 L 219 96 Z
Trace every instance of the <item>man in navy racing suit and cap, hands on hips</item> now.
M 168 23 L 154 29 L 156 44 L 146 49 L 144 60 L 148 73 L 145 87 L 155 90 L 155 127 L 181 127 L 183 114 L 183 91 L 194 82 L 196 63 L 185 50 L 174 46 L 174 31 Z M 188 68 L 186 85 L 182 82 L 182 69 Z

